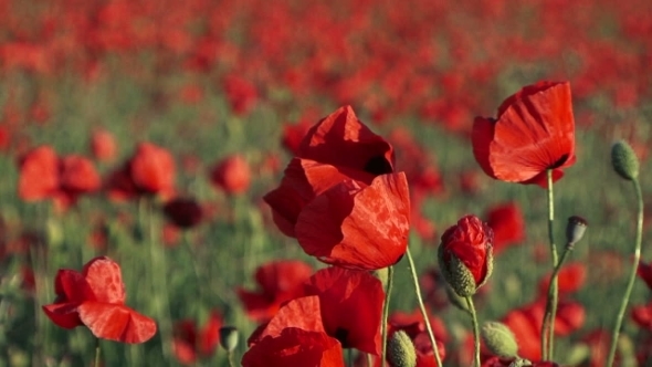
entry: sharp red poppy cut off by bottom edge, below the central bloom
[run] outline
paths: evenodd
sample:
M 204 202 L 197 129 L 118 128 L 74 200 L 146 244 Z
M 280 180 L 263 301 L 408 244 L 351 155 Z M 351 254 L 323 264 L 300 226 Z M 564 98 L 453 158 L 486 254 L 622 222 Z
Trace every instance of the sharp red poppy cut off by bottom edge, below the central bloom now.
M 341 345 L 324 331 L 317 296 L 290 301 L 250 345 L 244 367 L 344 367 Z

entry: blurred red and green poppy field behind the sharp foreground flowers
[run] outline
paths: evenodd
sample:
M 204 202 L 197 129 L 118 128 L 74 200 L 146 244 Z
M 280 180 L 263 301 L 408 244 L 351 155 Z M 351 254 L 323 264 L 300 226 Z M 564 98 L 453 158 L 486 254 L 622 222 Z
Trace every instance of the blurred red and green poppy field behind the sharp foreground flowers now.
M 103 340 L 105 366 L 225 366 L 225 325 L 240 331 L 240 360 L 260 319 L 243 294 L 273 303 L 278 279 L 325 268 L 262 198 L 307 129 L 345 105 L 393 145 L 444 364 L 470 365 L 471 325 L 448 301 L 437 247 L 465 214 L 488 222 L 480 319 L 536 328 L 550 272 L 546 191 L 484 175 L 470 134 L 475 116 L 540 80 L 569 81 L 576 120 L 577 161 L 555 185 L 558 242 L 568 217 L 589 222 L 560 279 L 557 361 L 602 366 L 635 228 L 613 141 L 641 159 L 652 208 L 650 34 L 646 0 L 0 1 L 0 366 L 92 365 L 88 329 L 60 328 L 41 306 L 54 302 L 57 270 L 99 255 L 119 263 L 126 304 L 158 326 L 145 344 Z M 649 234 L 646 220 L 645 264 Z M 278 261 L 302 263 L 255 277 Z M 404 260 L 395 273 L 391 310 L 412 314 Z M 651 289 L 637 281 L 621 360 L 652 358 Z M 522 347 L 536 349 L 537 333 Z

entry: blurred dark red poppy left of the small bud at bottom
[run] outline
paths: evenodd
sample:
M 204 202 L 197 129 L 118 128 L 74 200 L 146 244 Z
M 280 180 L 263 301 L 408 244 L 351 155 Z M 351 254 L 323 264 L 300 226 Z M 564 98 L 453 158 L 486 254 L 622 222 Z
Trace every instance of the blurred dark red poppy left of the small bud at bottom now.
M 220 342 L 220 327 L 222 318 L 217 311 L 210 313 L 206 325 L 199 329 L 191 319 L 176 323 L 172 347 L 179 363 L 192 365 L 198 358 L 212 356 Z

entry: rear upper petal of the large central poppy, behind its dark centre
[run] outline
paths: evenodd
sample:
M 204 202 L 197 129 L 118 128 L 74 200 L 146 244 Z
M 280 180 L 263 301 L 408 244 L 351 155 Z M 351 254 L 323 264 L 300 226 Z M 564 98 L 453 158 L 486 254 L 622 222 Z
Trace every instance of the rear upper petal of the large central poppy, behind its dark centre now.
M 299 157 L 374 175 L 393 171 L 393 148 L 344 106 L 313 126 L 299 146 Z

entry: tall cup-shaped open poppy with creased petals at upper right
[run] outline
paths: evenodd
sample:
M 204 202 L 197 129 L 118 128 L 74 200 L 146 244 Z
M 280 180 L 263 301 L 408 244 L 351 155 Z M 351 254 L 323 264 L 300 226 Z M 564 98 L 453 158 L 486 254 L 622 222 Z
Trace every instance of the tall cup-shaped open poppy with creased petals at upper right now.
M 568 82 L 525 86 L 498 107 L 498 117 L 476 117 L 473 155 L 488 176 L 547 187 L 575 162 L 575 119 Z

